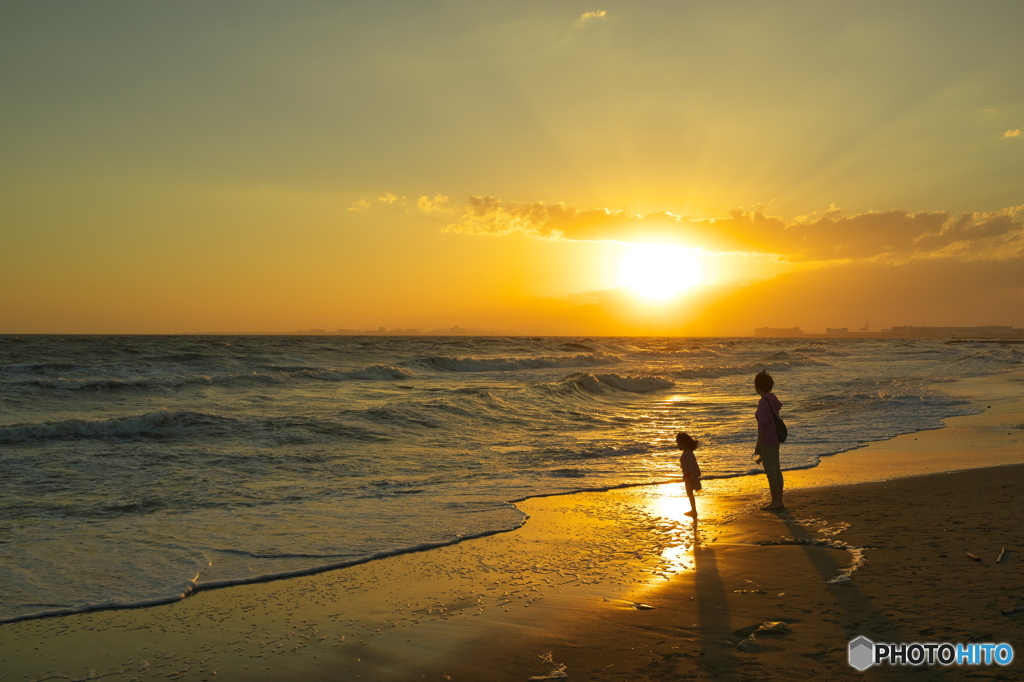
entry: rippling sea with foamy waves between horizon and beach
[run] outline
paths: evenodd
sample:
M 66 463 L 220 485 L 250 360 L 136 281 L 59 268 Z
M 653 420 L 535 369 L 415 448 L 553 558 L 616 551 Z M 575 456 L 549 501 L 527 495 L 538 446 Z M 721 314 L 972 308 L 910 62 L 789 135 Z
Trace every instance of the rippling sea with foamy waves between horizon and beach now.
M 0 337 L 0 621 L 515 528 L 522 498 L 757 473 L 966 414 L 1020 346 L 894 339 Z M 936 383 L 939 382 L 939 383 Z

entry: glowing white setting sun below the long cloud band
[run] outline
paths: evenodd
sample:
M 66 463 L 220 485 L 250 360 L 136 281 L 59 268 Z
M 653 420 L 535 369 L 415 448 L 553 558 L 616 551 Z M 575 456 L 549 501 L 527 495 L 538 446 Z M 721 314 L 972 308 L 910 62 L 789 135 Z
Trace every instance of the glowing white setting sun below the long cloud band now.
M 618 286 L 664 301 L 703 281 L 700 259 L 670 244 L 633 244 L 618 261 Z

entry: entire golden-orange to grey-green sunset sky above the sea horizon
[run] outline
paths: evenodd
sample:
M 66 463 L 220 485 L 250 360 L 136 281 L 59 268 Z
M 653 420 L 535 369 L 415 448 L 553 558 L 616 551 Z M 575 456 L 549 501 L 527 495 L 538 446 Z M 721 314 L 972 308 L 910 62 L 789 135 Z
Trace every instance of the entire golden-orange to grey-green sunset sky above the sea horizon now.
M 0 333 L 1024 327 L 1021 26 L 0 0 Z

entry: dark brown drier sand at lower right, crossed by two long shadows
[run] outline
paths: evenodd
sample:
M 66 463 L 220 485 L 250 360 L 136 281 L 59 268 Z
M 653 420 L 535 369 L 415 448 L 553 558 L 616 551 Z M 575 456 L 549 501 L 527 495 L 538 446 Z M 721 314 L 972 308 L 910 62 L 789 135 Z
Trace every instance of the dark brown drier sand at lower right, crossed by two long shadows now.
M 787 512 L 724 523 L 689 553 L 691 569 L 634 593 L 653 609 L 591 603 L 554 632 L 516 635 L 485 656 L 467 649 L 437 672 L 525 680 L 546 670 L 538 656 L 551 651 L 580 680 L 1024 679 L 1019 659 L 866 674 L 847 664 L 859 635 L 1009 642 L 1020 656 L 1024 610 L 1002 611 L 1024 607 L 1022 489 L 1024 466 L 1013 466 L 794 493 Z M 752 642 L 768 622 L 788 632 Z M 488 676 L 492 667 L 507 674 Z

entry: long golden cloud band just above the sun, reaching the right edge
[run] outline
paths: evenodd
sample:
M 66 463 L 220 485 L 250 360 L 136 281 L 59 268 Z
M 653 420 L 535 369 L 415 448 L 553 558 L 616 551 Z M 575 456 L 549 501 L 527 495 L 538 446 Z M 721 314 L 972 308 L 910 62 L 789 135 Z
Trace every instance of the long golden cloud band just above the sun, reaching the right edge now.
M 453 209 L 456 207 L 453 206 Z M 665 212 L 579 210 L 564 204 L 518 204 L 471 197 L 447 231 L 581 242 L 676 243 L 718 252 L 778 254 L 791 261 L 879 260 L 903 262 L 955 256 L 1005 260 L 1024 254 L 1024 206 L 989 213 L 903 210 L 787 220 L 761 211 L 694 219 Z

